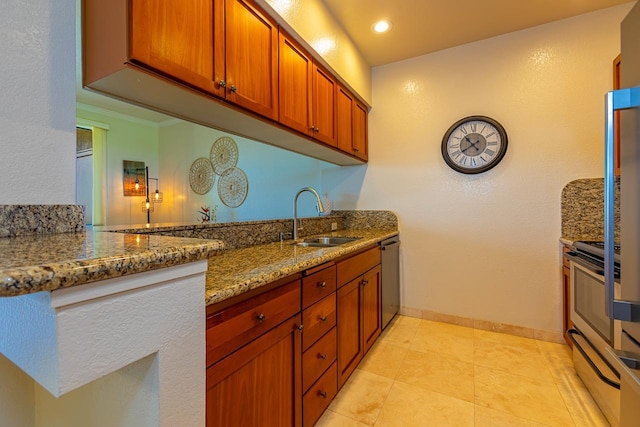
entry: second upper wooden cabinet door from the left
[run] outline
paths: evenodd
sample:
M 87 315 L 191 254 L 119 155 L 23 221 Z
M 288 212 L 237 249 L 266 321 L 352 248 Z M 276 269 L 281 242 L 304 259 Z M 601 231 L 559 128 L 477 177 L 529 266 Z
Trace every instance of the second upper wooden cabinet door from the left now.
M 278 114 L 278 25 L 248 0 L 225 2 L 226 99 Z

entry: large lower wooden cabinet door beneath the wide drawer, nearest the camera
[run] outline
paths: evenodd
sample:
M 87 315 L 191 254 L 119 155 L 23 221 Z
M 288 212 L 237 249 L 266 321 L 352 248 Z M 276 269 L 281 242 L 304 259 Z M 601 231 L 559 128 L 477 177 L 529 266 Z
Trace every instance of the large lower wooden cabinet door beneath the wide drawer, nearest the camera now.
M 207 369 L 207 427 L 300 426 L 300 316 Z

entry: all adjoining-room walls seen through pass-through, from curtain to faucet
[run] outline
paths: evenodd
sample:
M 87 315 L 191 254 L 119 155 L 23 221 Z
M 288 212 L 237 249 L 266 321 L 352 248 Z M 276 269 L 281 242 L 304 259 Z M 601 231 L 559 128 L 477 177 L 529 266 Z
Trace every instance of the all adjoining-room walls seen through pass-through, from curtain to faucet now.
M 118 112 L 80 105 L 81 123 L 104 124 L 105 143 L 105 225 L 146 223 L 142 212 L 144 197 L 125 197 L 122 189 L 123 160 L 143 161 L 149 176 L 159 178 L 164 200 L 151 213 L 152 223 L 199 222 L 202 206 L 217 206 L 218 222 L 290 218 L 297 190 L 311 186 L 321 191 L 321 169 L 328 163 L 291 153 L 277 147 L 206 128 L 178 119 L 158 124 Z M 189 169 L 198 157 L 209 158 L 211 146 L 218 138 L 228 136 L 238 145 L 238 167 L 247 175 L 249 191 L 237 208 L 222 203 L 217 191 L 219 176 L 213 188 L 198 195 L 189 185 Z M 149 182 L 150 192 L 156 182 Z M 309 199 L 307 200 L 307 197 Z M 315 200 L 300 198 L 299 214 L 316 216 Z

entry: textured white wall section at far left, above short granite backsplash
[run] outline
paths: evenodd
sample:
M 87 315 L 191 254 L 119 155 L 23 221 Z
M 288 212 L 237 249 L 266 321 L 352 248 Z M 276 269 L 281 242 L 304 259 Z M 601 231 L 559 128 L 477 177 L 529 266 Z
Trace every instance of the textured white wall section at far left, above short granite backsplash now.
M 74 16 L 74 0 L 2 2 L 2 204 L 75 201 Z

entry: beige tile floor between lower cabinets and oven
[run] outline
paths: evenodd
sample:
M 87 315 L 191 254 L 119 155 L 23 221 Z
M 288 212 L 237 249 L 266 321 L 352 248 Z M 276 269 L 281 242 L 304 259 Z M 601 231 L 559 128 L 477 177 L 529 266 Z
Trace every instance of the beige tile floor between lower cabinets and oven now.
M 316 426 L 609 424 L 568 346 L 399 316 Z

